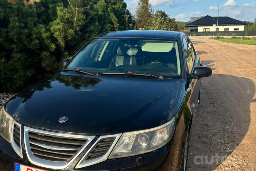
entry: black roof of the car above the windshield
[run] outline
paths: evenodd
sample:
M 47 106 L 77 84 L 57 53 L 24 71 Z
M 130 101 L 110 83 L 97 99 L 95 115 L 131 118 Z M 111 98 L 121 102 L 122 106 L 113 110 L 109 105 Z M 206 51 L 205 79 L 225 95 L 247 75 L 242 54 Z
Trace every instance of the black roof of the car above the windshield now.
M 131 37 L 131 38 L 155 38 L 155 39 L 179 39 L 181 32 L 160 31 L 160 30 L 127 30 L 105 32 L 96 37 Z M 183 33 L 184 34 L 184 33 Z

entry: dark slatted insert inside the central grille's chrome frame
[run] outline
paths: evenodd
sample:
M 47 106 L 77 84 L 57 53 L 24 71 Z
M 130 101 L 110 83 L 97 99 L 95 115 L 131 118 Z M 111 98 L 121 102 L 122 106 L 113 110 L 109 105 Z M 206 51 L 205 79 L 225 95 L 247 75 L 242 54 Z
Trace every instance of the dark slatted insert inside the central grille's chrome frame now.
M 86 143 L 86 139 L 58 137 L 30 131 L 28 139 L 35 157 L 54 162 L 68 161 Z

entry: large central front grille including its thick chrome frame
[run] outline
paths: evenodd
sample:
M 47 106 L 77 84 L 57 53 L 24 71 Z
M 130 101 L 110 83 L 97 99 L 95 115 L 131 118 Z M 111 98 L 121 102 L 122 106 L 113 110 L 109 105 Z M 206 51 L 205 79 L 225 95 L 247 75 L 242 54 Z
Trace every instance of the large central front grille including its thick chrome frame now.
M 24 126 L 28 161 L 47 169 L 67 168 L 96 136 L 49 132 Z

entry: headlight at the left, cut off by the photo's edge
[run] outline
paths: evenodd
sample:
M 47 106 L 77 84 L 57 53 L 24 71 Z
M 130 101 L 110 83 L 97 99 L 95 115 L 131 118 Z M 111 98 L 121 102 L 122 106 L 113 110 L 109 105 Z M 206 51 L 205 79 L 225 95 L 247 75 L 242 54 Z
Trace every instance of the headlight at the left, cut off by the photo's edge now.
M 4 107 L 0 111 L 0 135 L 9 143 L 11 142 L 11 127 L 13 118 L 5 111 Z

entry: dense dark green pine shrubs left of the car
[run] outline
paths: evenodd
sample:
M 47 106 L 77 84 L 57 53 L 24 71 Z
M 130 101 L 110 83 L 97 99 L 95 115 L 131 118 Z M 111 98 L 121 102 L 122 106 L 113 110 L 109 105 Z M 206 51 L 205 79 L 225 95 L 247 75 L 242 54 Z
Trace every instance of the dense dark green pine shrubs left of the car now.
M 0 92 L 17 92 L 58 71 L 100 32 L 134 29 L 123 0 L 0 0 Z

